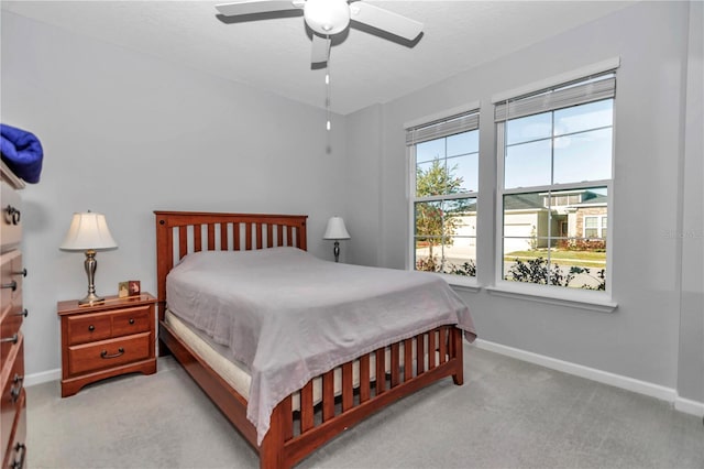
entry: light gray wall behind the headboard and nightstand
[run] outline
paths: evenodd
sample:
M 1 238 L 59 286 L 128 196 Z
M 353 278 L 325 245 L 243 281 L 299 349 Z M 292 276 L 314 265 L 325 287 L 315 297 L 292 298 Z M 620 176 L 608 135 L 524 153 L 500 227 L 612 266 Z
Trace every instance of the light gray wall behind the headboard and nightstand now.
M 332 259 L 336 119 L 328 154 L 322 110 L 3 11 L 1 120 L 45 151 L 22 194 L 28 374 L 61 367 L 56 302 L 86 294 L 84 255 L 58 250 L 74 211 L 106 214 L 119 244 L 98 253 L 99 294 L 130 279 L 156 293 L 155 209 L 306 214 L 310 251 Z

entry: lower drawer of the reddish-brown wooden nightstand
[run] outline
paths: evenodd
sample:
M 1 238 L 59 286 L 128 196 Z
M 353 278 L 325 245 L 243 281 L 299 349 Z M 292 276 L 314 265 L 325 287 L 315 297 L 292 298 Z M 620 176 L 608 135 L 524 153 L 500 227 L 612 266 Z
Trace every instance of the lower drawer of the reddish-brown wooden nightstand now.
M 69 374 L 113 368 L 150 358 L 151 332 L 68 348 Z

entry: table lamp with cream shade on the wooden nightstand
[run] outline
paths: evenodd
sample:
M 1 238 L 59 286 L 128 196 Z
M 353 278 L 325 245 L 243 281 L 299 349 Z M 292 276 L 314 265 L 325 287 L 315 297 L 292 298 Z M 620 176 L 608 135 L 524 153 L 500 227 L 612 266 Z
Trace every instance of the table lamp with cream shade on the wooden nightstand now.
M 79 299 L 79 305 L 101 303 L 103 297 L 96 295 L 94 283 L 98 261 L 96 251 L 107 251 L 117 249 L 118 243 L 110 234 L 106 217 L 102 214 L 94 214 L 90 210 L 82 214 L 74 214 L 66 238 L 58 249 L 62 251 L 85 251 L 86 252 L 86 275 L 88 275 L 88 295 Z

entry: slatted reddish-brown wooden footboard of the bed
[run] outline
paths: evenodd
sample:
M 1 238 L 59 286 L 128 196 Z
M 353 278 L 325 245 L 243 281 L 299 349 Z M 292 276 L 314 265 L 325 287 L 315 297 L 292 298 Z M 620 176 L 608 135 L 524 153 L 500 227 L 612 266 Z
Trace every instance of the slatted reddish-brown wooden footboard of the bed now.
M 385 362 L 391 349 L 389 363 Z M 372 355 L 376 377 L 370 375 Z M 424 358 L 425 356 L 425 358 Z M 262 468 L 287 468 L 372 413 L 446 377 L 463 383 L 462 332 L 442 326 L 392 343 L 359 358 L 359 385 L 353 385 L 352 362 L 342 364 L 342 393 L 333 393 L 333 371 L 323 374 L 322 401 L 312 399 L 312 380 L 299 392 L 300 410 L 292 412 L 293 396 L 279 403 L 260 449 Z M 402 364 L 403 363 L 403 364 Z

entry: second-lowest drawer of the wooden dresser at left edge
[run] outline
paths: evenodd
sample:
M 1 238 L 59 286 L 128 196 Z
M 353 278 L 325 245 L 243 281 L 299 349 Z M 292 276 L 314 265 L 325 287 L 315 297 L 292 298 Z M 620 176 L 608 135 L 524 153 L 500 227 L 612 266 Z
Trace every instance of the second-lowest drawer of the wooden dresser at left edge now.
M 24 392 L 24 341 L 20 335 L 16 349 L 8 357 L 8 362 L 2 362 L 2 367 L 9 367 L 9 373 L 2 373 L 6 381 L 2 382 L 2 395 L 0 395 L 0 448 L 6 449 L 10 444 L 9 428 L 15 421 L 18 412 L 21 410 L 20 397 Z

